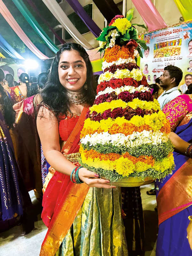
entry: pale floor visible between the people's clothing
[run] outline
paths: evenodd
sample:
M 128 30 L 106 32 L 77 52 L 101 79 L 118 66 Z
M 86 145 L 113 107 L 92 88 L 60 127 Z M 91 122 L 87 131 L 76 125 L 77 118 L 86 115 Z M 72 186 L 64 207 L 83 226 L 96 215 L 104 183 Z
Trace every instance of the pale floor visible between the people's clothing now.
M 141 187 L 141 197 L 146 229 L 146 253 L 145 256 L 155 256 L 156 236 L 157 236 L 157 214 L 154 211 L 156 206 L 155 196 L 148 196 L 147 190 L 153 188 L 153 184 Z M 33 204 L 37 211 L 40 210 L 33 191 L 30 191 Z M 45 237 L 47 228 L 38 214 L 35 222 L 35 229 L 28 235 L 22 235 L 21 226 L 16 226 L 10 230 L 0 233 L 0 256 L 38 256 L 41 244 Z

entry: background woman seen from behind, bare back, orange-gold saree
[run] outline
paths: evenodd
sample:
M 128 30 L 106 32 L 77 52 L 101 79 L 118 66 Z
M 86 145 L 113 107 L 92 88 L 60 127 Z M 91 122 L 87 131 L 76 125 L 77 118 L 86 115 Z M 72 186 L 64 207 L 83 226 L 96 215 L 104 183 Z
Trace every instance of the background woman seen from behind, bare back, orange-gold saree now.
M 15 87 L 14 92 L 18 97 L 18 101 L 24 100 L 29 97 L 30 85 L 29 76 L 26 73 L 22 73 L 19 77 L 20 84 Z

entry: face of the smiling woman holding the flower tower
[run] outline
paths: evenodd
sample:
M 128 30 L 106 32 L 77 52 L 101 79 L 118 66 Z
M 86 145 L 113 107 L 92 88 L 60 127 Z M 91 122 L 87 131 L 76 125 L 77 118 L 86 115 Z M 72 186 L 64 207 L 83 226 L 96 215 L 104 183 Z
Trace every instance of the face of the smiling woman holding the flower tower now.
M 79 52 L 71 50 L 61 53 L 58 74 L 63 87 L 73 92 L 81 91 L 87 78 L 87 67 Z

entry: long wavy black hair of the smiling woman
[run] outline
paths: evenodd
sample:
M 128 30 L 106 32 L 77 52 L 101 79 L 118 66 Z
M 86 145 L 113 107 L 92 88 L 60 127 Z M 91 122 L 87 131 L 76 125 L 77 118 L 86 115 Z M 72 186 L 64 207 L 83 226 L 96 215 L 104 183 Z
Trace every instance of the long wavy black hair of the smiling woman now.
M 47 82 L 45 88 L 41 92 L 43 98 L 43 103 L 48 105 L 50 109 L 54 112 L 56 117 L 60 114 L 66 117 L 67 111 L 70 111 L 69 100 L 66 95 L 66 89 L 62 86 L 59 80 L 58 65 L 60 61 L 60 55 L 64 51 L 76 50 L 79 52 L 80 56 L 84 59 L 87 67 L 87 90 L 83 88 L 84 95 L 86 96 L 87 103 L 92 105 L 96 95 L 96 86 L 93 79 L 93 71 L 91 61 L 89 60 L 89 55 L 85 49 L 80 44 L 66 43 L 60 48 L 59 52 L 55 55 L 52 61 L 51 68 L 47 76 Z

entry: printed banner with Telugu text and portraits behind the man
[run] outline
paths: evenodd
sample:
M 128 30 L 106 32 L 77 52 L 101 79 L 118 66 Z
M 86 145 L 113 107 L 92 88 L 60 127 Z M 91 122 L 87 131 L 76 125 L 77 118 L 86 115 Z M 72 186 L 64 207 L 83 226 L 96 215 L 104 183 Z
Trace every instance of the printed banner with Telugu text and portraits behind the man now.
M 148 83 L 153 84 L 164 67 L 174 65 L 183 71 L 180 84 L 184 84 L 184 76 L 192 74 L 192 21 L 152 31 L 140 38 L 147 44 L 140 68 Z

